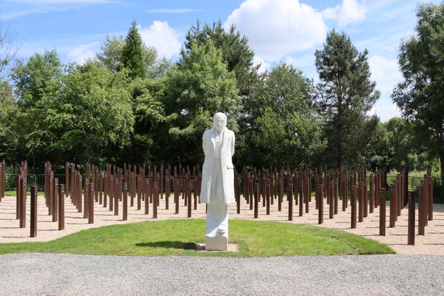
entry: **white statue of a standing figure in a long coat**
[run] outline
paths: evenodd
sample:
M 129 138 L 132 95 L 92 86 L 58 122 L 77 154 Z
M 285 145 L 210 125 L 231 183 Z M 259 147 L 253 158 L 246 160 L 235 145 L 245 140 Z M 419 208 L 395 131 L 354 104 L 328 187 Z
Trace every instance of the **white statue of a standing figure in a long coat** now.
M 205 162 L 200 202 L 207 204 L 205 250 L 228 250 L 228 204 L 234 198 L 234 132 L 225 128 L 227 116 L 214 114 L 213 128 L 202 137 Z

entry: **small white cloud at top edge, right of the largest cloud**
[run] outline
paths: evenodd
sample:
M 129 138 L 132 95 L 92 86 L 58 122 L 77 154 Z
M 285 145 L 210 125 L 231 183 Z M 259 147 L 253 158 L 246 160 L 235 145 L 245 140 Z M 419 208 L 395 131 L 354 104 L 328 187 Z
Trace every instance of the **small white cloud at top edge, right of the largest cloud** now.
M 326 8 L 322 11 L 325 19 L 337 19 L 339 26 L 363 21 L 366 17 L 366 3 L 357 3 L 356 0 L 342 0 L 341 5 Z

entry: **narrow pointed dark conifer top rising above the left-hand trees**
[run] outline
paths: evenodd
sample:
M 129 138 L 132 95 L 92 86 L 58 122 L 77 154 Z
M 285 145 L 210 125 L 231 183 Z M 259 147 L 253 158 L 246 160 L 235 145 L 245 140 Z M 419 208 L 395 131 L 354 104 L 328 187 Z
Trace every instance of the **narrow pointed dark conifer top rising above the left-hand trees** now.
M 123 67 L 129 70 L 131 78 L 144 78 L 145 66 L 144 66 L 144 51 L 142 38 L 137 30 L 136 21 L 131 23 L 131 27 L 126 35 L 125 44 L 123 45 L 121 64 Z

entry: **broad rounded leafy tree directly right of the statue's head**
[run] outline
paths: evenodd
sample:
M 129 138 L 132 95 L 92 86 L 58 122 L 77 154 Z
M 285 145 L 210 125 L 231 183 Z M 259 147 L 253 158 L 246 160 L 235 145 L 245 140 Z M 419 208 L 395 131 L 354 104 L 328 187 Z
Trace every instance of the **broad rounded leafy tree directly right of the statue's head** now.
M 240 137 L 246 146 L 238 159 L 259 168 L 315 164 L 325 141 L 312 92 L 311 82 L 289 64 L 267 72 L 244 103 Z

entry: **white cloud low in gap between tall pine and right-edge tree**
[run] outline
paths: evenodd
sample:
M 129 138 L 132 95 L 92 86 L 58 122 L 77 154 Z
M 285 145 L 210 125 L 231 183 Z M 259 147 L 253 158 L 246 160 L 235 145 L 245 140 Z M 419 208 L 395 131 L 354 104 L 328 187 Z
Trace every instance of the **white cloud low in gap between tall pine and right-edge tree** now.
M 400 116 L 400 110 L 391 101 L 391 93 L 396 83 L 402 80 L 398 70 L 398 61 L 389 60 L 379 55 L 368 58 L 371 80 L 376 81 L 376 88 L 381 91 L 381 97 L 373 105 L 372 113 L 377 114 L 381 121 L 388 121 L 392 117 Z

